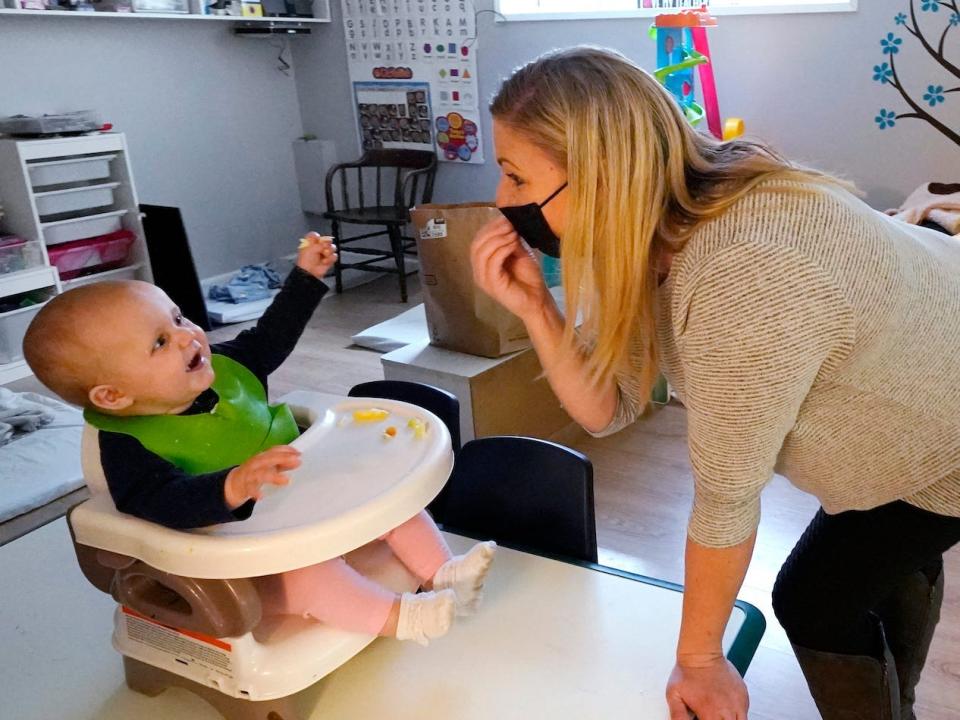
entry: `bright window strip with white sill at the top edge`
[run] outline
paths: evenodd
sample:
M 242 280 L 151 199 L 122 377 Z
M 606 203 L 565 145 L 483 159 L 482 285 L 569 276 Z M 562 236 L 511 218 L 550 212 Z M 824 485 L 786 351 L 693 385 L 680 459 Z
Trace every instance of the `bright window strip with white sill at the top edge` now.
M 651 17 L 672 9 L 699 8 L 699 0 L 497 0 L 507 20 L 574 20 Z M 714 15 L 851 12 L 857 0 L 709 0 Z

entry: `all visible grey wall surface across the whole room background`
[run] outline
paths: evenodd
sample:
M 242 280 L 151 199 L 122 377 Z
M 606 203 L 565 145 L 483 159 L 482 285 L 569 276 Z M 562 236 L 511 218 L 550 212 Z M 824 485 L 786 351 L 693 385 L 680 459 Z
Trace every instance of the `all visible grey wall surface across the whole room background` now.
M 0 115 L 98 109 L 127 133 L 141 200 L 182 208 L 202 277 L 289 253 L 306 227 L 291 141 L 312 132 L 335 140 L 342 159 L 359 153 L 339 3 L 331 5 L 333 23 L 292 40 L 290 77 L 277 70 L 276 41 L 234 37 L 226 23 L 0 16 Z M 478 6 L 489 9 L 492 0 Z M 871 75 L 884 59 L 879 40 L 906 0 L 861 6 L 852 14 L 722 17 L 711 43 L 725 115 L 744 117 L 752 133 L 846 175 L 888 207 L 924 180 L 957 180 L 960 148 L 916 120 L 877 130 L 881 107 L 903 108 Z M 495 23 L 486 13 L 481 97 L 516 65 L 578 42 L 615 47 L 650 68 L 648 24 Z M 898 61 L 911 84 L 942 82 L 899 34 Z M 945 117 L 956 127 L 960 96 L 947 97 Z M 483 126 L 487 163 L 443 163 L 436 200 L 492 197 L 497 169 L 485 112 Z

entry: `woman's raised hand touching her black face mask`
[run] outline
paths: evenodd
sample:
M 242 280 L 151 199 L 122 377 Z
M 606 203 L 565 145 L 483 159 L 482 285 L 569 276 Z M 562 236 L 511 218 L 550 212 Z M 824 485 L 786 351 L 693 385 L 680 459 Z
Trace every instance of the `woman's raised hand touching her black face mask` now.
M 505 217 L 480 228 L 470 246 L 470 261 L 477 286 L 521 319 L 542 313 L 549 303 L 536 256 Z

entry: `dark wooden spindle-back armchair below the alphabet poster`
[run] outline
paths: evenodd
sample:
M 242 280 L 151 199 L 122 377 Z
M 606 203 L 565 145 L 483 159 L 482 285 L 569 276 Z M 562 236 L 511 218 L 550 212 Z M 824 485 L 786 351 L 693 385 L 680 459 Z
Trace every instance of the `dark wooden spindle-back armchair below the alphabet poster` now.
M 400 298 L 407 302 L 406 255 L 415 253 L 416 241 L 403 235 L 410 222 L 410 208 L 429 203 L 433 197 L 433 180 L 437 172 L 437 155 L 430 150 L 367 150 L 350 163 L 330 168 L 326 178 L 327 212 L 340 259 L 334 268 L 337 292 L 343 292 L 343 270 L 352 268 L 366 272 L 396 273 L 400 278 Z M 340 185 L 339 206 L 334 186 Z M 352 237 L 341 234 L 345 224 L 377 226 L 383 230 Z M 387 236 L 390 250 L 354 246 L 360 240 Z M 343 253 L 351 252 L 369 259 L 344 262 Z M 377 263 L 392 260 L 395 267 Z

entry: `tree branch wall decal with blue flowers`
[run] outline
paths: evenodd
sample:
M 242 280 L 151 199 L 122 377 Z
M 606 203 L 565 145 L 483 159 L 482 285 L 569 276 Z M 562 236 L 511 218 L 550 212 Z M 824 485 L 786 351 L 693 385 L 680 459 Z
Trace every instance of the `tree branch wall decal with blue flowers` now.
M 923 120 L 935 128 L 945 137 L 960 145 L 960 132 L 958 128 L 951 128 L 939 117 L 936 110 L 947 102 L 950 93 L 960 92 L 960 66 L 956 58 L 947 57 L 948 49 L 956 49 L 957 42 L 947 44 L 947 39 L 951 35 L 956 37 L 960 33 L 960 0 L 910 0 L 909 15 L 907 13 L 898 13 L 893 21 L 897 27 L 903 28 L 909 35 L 913 36 L 928 57 L 932 58 L 934 63 L 950 78 L 947 85 L 957 83 L 956 87 L 947 87 L 941 82 L 934 81 L 925 84 L 920 91 L 912 91 L 906 87 L 901 77 L 897 74 L 897 56 L 903 47 L 903 37 L 896 32 L 888 32 L 886 37 L 880 39 L 880 48 L 887 57 L 885 62 L 873 66 L 873 79 L 881 85 L 890 85 L 893 87 L 906 104 L 910 111 L 897 113 L 887 108 L 882 108 L 874 118 L 874 122 L 881 130 L 892 128 L 898 120 L 914 118 Z M 917 6 L 920 8 L 920 15 L 917 13 Z M 937 18 L 933 16 L 936 15 Z M 923 17 L 921 23 L 918 17 Z M 942 30 L 940 23 L 942 22 Z M 931 32 L 931 27 L 936 29 Z M 939 34 L 939 39 L 936 35 Z M 924 107 L 926 105 L 926 107 Z

